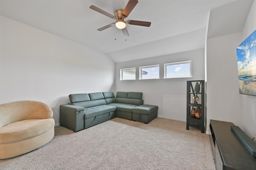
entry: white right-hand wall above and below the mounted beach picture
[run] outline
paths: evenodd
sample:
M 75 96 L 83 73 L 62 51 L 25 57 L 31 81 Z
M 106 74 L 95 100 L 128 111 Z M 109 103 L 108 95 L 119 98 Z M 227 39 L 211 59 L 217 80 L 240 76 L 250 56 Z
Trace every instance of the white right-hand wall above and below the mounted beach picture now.
M 242 39 L 244 41 L 256 29 L 256 1 L 254 0 L 252 8 L 247 17 L 244 29 L 242 31 Z M 249 136 L 256 136 L 256 96 L 242 96 L 242 127 L 243 131 Z

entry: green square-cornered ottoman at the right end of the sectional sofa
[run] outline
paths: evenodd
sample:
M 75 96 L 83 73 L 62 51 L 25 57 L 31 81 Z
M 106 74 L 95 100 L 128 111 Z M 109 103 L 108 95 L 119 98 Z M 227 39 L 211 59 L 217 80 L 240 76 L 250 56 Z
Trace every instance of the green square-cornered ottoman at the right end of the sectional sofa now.
M 140 105 L 132 108 L 132 120 L 148 124 L 157 117 L 158 106 Z

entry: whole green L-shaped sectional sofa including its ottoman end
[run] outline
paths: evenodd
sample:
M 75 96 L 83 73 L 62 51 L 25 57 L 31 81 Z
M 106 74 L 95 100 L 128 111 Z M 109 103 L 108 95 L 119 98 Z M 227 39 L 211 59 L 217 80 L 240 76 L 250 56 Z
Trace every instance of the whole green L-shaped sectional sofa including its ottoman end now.
M 136 116 L 134 121 L 148 123 L 157 117 L 158 106 L 143 105 L 141 92 L 117 92 L 116 97 L 113 92 L 70 94 L 69 99 L 69 104 L 60 105 L 60 125 L 75 132 L 114 117 L 132 120 L 134 108 L 136 115 L 140 115 L 140 111 L 144 115 L 141 120 Z M 140 110 L 138 106 L 145 107 Z

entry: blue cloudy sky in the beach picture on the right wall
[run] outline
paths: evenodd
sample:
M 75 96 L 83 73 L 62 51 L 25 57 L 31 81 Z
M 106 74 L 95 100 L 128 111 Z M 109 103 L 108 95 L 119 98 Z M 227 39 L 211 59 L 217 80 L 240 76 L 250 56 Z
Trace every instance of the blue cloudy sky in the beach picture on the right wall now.
M 256 69 L 256 30 L 237 48 L 238 74 Z

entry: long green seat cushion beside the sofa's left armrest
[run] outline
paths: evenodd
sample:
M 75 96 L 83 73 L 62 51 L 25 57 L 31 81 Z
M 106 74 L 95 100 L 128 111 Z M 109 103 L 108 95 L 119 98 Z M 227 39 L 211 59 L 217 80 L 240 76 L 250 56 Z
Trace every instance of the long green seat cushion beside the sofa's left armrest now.
M 89 119 L 91 117 L 103 115 L 105 113 L 109 113 L 115 110 L 116 110 L 116 107 L 110 106 L 110 105 L 100 105 L 100 106 L 84 108 L 84 119 Z

